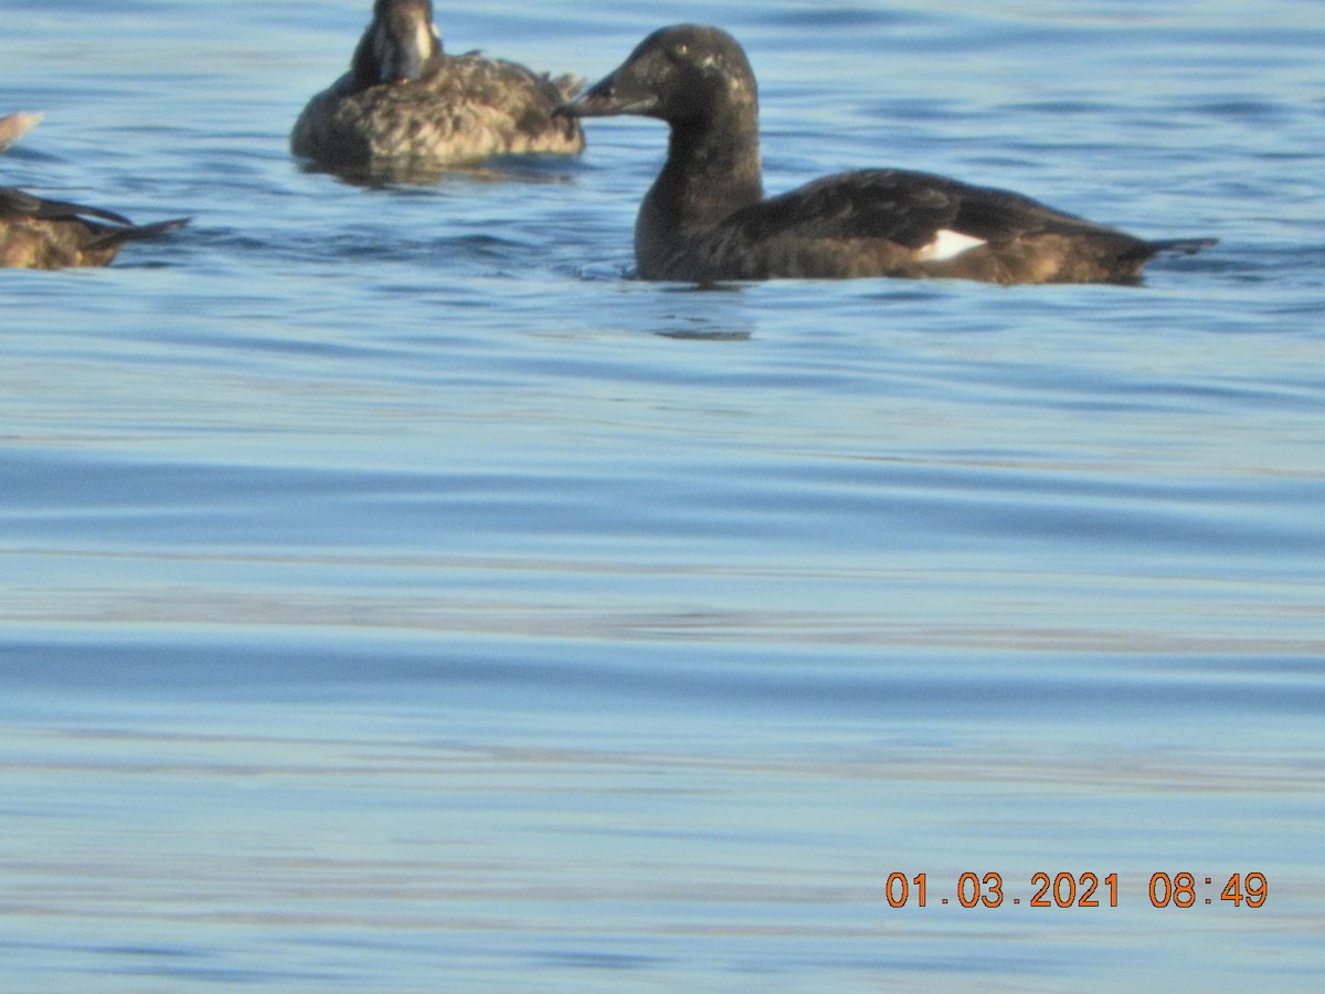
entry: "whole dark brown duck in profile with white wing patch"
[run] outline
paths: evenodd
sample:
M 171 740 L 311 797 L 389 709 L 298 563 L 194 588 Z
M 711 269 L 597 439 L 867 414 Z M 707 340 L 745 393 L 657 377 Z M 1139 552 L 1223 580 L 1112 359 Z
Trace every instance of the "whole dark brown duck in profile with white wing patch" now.
M 843 172 L 765 199 L 754 73 L 735 38 L 682 24 L 649 34 L 559 109 L 670 126 L 666 164 L 635 223 L 645 280 L 957 277 L 996 284 L 1136 282 L 1146 241 L 1030 197 L 901 170 Z

